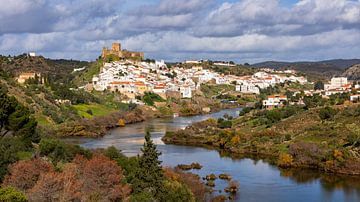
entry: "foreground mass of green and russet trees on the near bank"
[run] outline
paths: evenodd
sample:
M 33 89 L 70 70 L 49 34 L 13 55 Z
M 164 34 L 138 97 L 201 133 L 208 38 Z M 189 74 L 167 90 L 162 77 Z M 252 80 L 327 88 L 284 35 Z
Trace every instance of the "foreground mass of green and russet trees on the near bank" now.
M 23 142 L 15 138 L 1 139 L 0 148 L 10 140 Z M 114 147 L 91 151 L 45 138 L 27 150 L 12 150 L 14 157 L 30 155 L 11 162 L 8 153 L 2 153 L 0 200 L 205 201 L 207 190 L 200 177 L 162 168 L 161 153 L 149 133 L 145 140 L 142 155 L 131 158 Z

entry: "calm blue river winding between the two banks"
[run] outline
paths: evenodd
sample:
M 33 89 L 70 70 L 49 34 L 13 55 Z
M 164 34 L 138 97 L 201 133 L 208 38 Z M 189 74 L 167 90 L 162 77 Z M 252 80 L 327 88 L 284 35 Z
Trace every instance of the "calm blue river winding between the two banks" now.
M 201 170 L 191 172 L 201 177 L 214 173 L 230 174 L 240 182 L 236 201 L 289 201 L 289 202 L 322 202 L 322 201 L 360 201 L 360 178 L 335 176 L 310 170 L 279 170 L 263 160 L 249 158 L 236 159 L 209 150 L 191 146 L 165 145 L 161 137 L 166 131 L 185 128 L 191 123 L 208 118 L 219 118 L 224 114 L 236 116 L 240 109 L 229 109 L 221 112 L 193 117 L 161 118 L 142 123 L 127 125 L 110 131 L 102 138 L 76 139 L 86 148 L 107 148 L 115 146 L 127 156 L 139 154 L 144 142 L 144 131 L 149 129 L 152 139 L 162 152 L 164 166 L 191 164 L 199 162 Z M 74 140 L 72 140 L 74 141 Z M 214 194 L 227 186 L 227 182 L 217 179 Z

